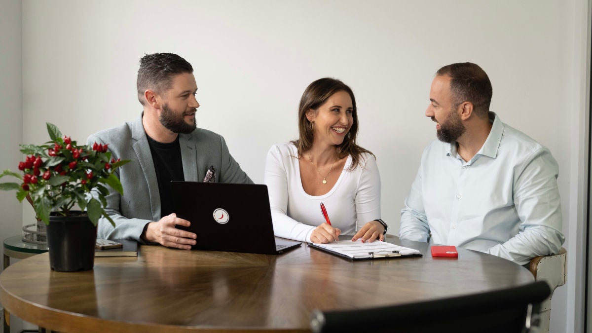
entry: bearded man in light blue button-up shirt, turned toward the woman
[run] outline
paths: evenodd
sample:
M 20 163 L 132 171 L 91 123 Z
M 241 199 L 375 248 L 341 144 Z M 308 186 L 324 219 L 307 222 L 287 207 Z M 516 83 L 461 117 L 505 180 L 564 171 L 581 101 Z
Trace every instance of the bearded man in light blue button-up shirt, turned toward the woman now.
M 440 68 L 424 150 L 401 211 L 401 239 L 487 252 L 524 265 L 565 241 L 551 152 L 489 111 L 491 82 L 473 63 Z

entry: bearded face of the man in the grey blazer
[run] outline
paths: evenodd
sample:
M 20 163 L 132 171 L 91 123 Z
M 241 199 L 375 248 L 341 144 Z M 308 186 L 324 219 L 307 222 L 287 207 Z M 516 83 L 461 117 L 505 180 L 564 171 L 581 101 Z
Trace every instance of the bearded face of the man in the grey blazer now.
M 197 84 L 192 73 L 181 73 L 173 78 L 172 87 L 163 94 L 164 103 L 159 120 L 173 133 L 191 133 L 195 130 L 195 112 L 200 104 L 195 99 Z

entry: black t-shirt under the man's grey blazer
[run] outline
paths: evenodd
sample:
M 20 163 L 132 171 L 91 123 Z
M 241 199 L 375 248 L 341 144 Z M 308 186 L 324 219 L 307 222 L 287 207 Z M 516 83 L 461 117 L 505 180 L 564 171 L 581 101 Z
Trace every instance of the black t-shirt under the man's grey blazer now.
M 181 146 L 179 136 L 171 143 L 157 142 L 152 137 L 148 138 L 152 161 L 156 171 L 158 191 L 160 193 L 160 217 L 175 212 L 173 205 L 173 190 L 170 181 L 184 181 L 183 162 L 181 160 Z

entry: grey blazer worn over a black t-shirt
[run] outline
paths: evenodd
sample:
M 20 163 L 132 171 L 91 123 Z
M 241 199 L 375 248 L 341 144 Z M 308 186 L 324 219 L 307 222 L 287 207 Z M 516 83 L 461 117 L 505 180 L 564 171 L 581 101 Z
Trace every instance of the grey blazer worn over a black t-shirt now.
M 108 143 L 112 158 L 131 160 L 115 171 L 124 195 L 109 188 L 107 196 L 105 212 L 115 222 L 115 228 L 102 217 L 97 237 L 142 242 L 140 236 L 144 226 L 160 220 L 160 194 L 142 116 L 123 126 L 95 133 L 86 142 L 89 145 Z M 208 168 L 213 165 L 216 182 L 253 183 L 230 155 L 222 136 L 197 128 L 192 133 L 180 134 L 179 145 L 185 181 L 203 181 Z

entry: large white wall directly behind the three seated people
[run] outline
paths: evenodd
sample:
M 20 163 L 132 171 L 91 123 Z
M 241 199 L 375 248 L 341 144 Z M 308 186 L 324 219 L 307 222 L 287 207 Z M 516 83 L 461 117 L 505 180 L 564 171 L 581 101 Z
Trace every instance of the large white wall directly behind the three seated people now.
M 570 280 L 556 291 L 551 325 L 581 331 L 589 10 L 588 0 L 25 0 L 23 138 L 44 142 L 46 121 L 82 141 L 135 119 L 138 59 L 173 52 L 195 68 L 198 126 L 224 135 L 262 182 L 269 147 L 297 134 L 304 88 L 333 76 L 356 94 L 359 143 L 378 156 L 382 216 L 397 234 L 420 155 L 435 139 L 424 117 L 433 75 L 478 63 L 493 83 L 491 109 L 559 162 Z

